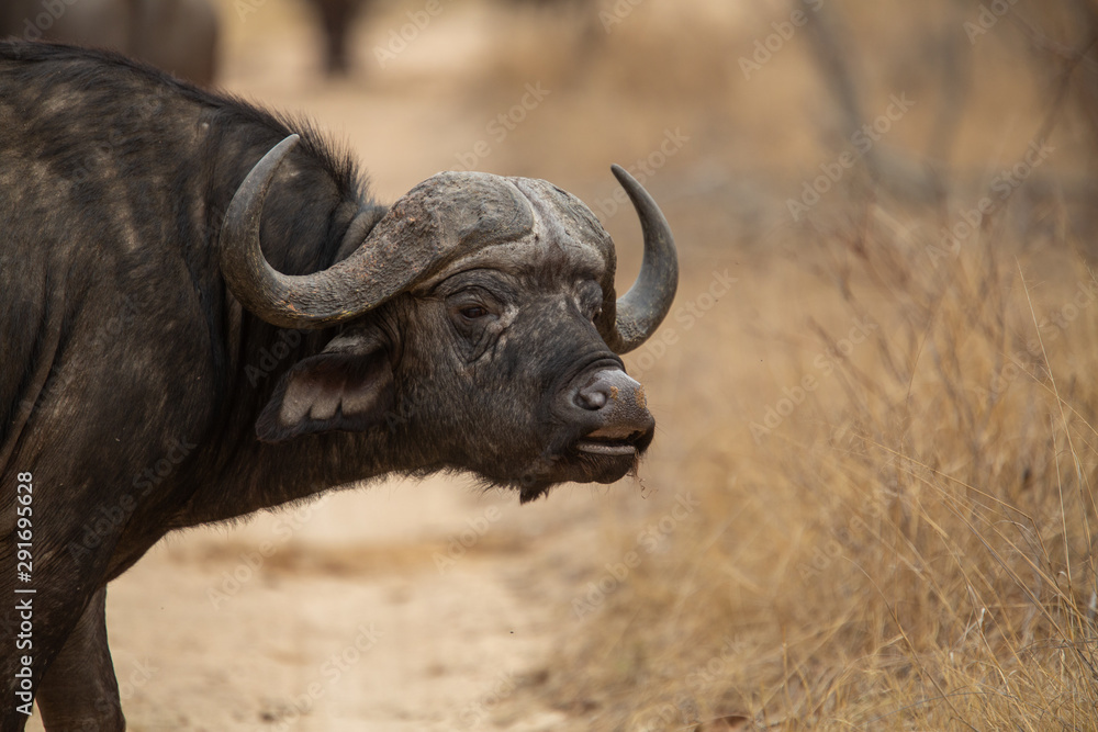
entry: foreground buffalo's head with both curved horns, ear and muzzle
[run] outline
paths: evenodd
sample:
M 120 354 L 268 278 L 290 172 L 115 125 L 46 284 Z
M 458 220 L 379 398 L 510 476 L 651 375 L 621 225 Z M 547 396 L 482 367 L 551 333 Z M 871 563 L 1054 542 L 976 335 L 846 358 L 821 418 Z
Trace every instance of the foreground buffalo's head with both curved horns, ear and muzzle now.
M 637 283 L 614 294 L 614 244 L 591 211 L 541 180 L 439 173 L 324 271 L 288 275 L 260 249 L 267 190 L 296 143 L 251 170 L 228 209 L 222 270 L 264 320 L 333 328 L 294 364 L 257 423 L 277 442 L 333 430 L 374 435 L 397 470 L 471 470 L 529 500 L 562 481 L 634 470 L 654 421 L 618 354 L 666 315 L 677 284 L 663 214 L 621 168 L 640 216 Z

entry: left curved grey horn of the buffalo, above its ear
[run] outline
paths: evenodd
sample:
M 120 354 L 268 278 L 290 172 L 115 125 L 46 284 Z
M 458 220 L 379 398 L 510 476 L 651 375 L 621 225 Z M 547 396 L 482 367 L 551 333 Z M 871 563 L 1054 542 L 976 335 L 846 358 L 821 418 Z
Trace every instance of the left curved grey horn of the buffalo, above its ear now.
M 248 173 L 225 214 L 221 264 L 251 313 L 284 328 L 324 328 L 377 307 L 455 257 L 520 238 L 534 224 L 518 190 L 484 173 L 439 173 L 397 201 L 355 251 L 313 274 L 283 274 L 264 257 L 259 222 L 290 135 Z

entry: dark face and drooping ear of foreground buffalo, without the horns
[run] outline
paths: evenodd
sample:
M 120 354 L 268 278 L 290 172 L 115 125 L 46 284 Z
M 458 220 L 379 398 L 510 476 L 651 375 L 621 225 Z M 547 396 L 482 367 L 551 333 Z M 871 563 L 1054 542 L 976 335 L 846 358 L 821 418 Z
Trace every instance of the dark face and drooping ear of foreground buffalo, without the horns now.
M 624 369 L 593 323 L 605 264 L 547 244 L 489 247 L 348 324 L 290 370 L 259 417 L 260 439 L 362 430 L 403 469 L 462 468 L 524 502 L 634 470 L 652 437 L 643 405 L 630 423 L 635 452 L 576 449 L 603 426 L 574 404 L 576 391 Z

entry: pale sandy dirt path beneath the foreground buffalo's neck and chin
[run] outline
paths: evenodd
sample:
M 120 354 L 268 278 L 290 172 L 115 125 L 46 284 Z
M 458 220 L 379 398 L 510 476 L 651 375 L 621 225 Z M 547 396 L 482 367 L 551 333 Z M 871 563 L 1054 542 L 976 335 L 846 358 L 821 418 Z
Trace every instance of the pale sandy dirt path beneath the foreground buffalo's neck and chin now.
M 171 537 L 110 587 L 130 729 L 568 729 L 498 702 L 545 663 L 568 590 L 536 556 L 579 549 L 591 500 L 436 478 Z

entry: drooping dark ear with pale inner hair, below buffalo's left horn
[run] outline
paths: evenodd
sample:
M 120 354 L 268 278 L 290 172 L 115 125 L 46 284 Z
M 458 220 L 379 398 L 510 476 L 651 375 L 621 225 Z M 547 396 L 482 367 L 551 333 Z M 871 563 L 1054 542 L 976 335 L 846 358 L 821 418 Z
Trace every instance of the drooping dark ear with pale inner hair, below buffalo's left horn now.
M 259 420 L 264 442 L 299 435 L 360 432 L 385 421 L 395 404 L 389 350 L 376 338 L 339 337 L 282 376 Z

